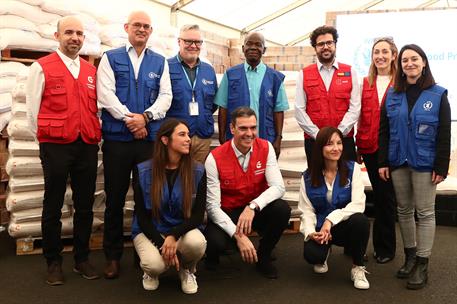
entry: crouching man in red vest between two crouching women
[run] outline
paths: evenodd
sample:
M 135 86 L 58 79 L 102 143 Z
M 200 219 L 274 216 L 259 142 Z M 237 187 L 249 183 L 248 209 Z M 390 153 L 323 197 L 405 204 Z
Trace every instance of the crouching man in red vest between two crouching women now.
M 236 243 L 241 258 L 256 263 L 265 277 L 278 271 L 271 252 L 286 229 L 290 207 L 281 199 L 284 181 L 270 142 L 257 138 L 257 118 L 249 107 L 231 113 L 233 139 L 214 149 L 206 159 L 208 225 L 206 266 L 215 269 L 229 243 Z M 248 235 L 261 236 L 256 249 Z

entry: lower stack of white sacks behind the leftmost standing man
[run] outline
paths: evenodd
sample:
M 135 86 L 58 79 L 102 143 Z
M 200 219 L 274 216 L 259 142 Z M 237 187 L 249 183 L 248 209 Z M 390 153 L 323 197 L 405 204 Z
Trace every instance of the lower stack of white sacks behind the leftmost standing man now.
M 9 159 L 6 171 L 10 176 L 6 207 L 11 212 L 8 227 L 9 234 L 15 238 L 41 236 L 41 213 L 43 207 L 44 178 L 39 147 L 30 131 L 26 117 L 25 87 L 28 69 L 23 66 L 17 74 L 16 86 L 12 92 L 11 121 L 8 125 Z M 104 192 L 102 166 L 99 161 L 99 176 L 97 183 L 94 208 L 103 208 Z M 62 234 L 71 235 L 72 222 L 72 192 L 70 187 L 65 193 L 62 208 Z M 102 221 L 94 218 L 93 228 L 102 225 Z

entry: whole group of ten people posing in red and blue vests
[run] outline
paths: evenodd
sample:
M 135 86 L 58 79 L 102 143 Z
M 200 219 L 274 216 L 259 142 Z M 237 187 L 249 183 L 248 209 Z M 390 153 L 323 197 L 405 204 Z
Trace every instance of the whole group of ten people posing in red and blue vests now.
M 60 217 L 68 177 L 75 209 L 73 271 L 99 278 L 89 262 L 89 237 L 102 138 L 106 279 L 121 273 L 131 177 L 131 234 L 146 290 L 157 289 L 160 274 L 175 268 L 182 291 L 196 293 L 198 262 L 206 255 L 206 268 L 217 269 L 231 249 L 264 277 L 277 278 L 272 252 L 291 212 L 282 200 L 277 162 L 289 105 L 284 75 L 262 62 L 263 35 L 245 37 L 246 61 L 228 69 L 218 86 L 214 69 L 199 58 L 198 25 L 181 28 L 179 52 L 169 59 L 146 47 L 152 33 L 147 13 L 132 12 L 124 29 L 127 45 L 107 51 L 96 69 L 78 56 L 81 21 L 64 17 L 55 33 L 58 50 L 30 69 L 27 116 L 45 179 L 46 282 L 64 283 Z M 434 238 L 436 185 L 449 166 L 447 92 L 435 84 L 420 47 L 410 44 L 398 52 L 389 37 L 375 40 L 360 88 L 354 69 L 335 60 L 337 40 L 331 26 L 314 30 L 318 61 L 297 79 L 295 116 L 308 162 L 299 195 L 304 259 L 314 272 L 325 273 L 331 245 L 343 246 L 352 257 L 354 287 L 369 288 L 363 160 L 375 193 L 375 259 L 387 263 L 395 256 L 398 210 L 405 263 L 397 277 L 408 278 L 408 288 L 422 288 Z M 210 151 L 217 109 L 221 145 Z M 257 248 L 252 231 L 260 236 Z

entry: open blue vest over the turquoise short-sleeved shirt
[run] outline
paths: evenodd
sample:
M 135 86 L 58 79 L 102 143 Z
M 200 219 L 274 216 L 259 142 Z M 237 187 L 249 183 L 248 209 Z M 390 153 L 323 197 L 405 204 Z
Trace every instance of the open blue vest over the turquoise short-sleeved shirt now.
M 276 138 L 274 124 L 274 108 L 278 97 L 279 88 L 284 80 L 284 75 L 267 67 L 265 76 L 260 86 L 259 94 L 259 130 L 258 136 L 273 143 Z M 226 138 L 232 138 L 230 120 L 233 110 L 241 106 L 250 106 L 249 86 L 246 79 L 244 64 L 236 65 L 227 70 L 228 100 L 227 100 L 227 128 Z

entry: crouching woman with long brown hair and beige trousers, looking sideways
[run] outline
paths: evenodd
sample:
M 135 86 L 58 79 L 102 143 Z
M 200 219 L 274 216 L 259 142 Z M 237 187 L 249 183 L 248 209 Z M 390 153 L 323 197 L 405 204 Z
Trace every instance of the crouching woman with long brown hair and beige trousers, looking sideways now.
M 181 289 L 197 292 L 196 265 L 206 250 L 198 229 L 206 202 L 206 173 L 190 158 L 189 128 L 177 119 L 160 127 L 152 160 L 140 163 L 134 177 L 132 238 L 144 271 L 143 287 L 159 287 L 169 267 L 179 272 Z

